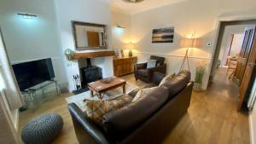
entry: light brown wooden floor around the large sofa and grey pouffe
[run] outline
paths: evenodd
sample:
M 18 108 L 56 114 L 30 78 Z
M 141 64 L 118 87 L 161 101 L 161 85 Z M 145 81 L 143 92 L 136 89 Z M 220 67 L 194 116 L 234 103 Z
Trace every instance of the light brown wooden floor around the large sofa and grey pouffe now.
M 123 77 L 135 81 L 133 75 Z M 34 111 L 20 112 L 20 129 L 30 119 L 45 112 L 56 112 L 64 119 L 64 128 L 54 144 L 77 144 L 72 119 L 65 98 L 71 94 L 56 96 Z M 220 69 L 207 91 L 193 92 L 189 110 L 180 120 L 164 144 L 249 144 L 247 115 L 236 112 L 238 87 L 229 81 L 225 70 Z

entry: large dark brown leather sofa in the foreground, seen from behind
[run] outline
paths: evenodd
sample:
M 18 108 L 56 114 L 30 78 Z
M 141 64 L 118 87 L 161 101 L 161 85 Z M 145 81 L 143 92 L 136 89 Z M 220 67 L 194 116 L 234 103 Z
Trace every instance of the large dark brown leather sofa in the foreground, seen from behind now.
M 154 73 L 153 84 L 165 76 Z M 187 112 L 193 83 L 188 71 L 179 72 L 143 98 L 104 116 L 102 126 L 96 125 L 75 104 L 68 109 L 80 144 L 160 144 Z M 139 88 L 139 89 L 143 89 Z M 134 97 L 136 89 L 129 95 Z

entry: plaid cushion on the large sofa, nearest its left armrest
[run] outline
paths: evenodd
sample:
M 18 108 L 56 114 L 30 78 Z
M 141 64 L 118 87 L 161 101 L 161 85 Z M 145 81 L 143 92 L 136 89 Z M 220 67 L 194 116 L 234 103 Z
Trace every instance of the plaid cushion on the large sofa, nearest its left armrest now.
M 122 95 L 114 100 L 108 101 L 88 100 L 85 101 L 85 112 L 87 117 L 96 122 L 96 124 L 102 124 L 102 118 L 105 114 L 124 107 L 131 101 L 132 98 L 129 95 Z

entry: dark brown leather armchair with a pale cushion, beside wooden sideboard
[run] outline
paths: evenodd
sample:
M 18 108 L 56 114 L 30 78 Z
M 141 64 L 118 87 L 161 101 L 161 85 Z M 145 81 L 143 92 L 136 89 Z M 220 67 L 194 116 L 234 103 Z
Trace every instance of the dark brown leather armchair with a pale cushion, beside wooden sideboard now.
M 135 65 L 134 76 L 136 80 L 140 79 L 145 83 L 151 83 L 153 80 L 154 72 L 166 74 L 166 64 L 164 57 L 151 55 L 150 60 L 156 60 L 155 67 L 147 68 L 147 62 Z

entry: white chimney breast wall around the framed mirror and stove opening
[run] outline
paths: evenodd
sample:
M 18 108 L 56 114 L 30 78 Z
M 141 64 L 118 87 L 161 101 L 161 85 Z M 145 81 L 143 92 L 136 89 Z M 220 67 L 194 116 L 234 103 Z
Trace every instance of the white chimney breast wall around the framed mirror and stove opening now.
M 97 23 L 108 27 L 108 49 L 112 49 L 111 43 L 111 10 L 110 3 L 96 0 L 55 0 L 56 15 L 58 20 L 58 31 L 61 36 L 61 48 L 73 49 L 72 20 L 81 22 Z M 79 62 L 77 60 L 65 60 L 65 69 L 69 82 L 69 90 L 74 89 L 73 75 L 79 74 Z M 113 76 L 112 57 L 96 58 L 92 64 L 102 68 L 103 78 Z

